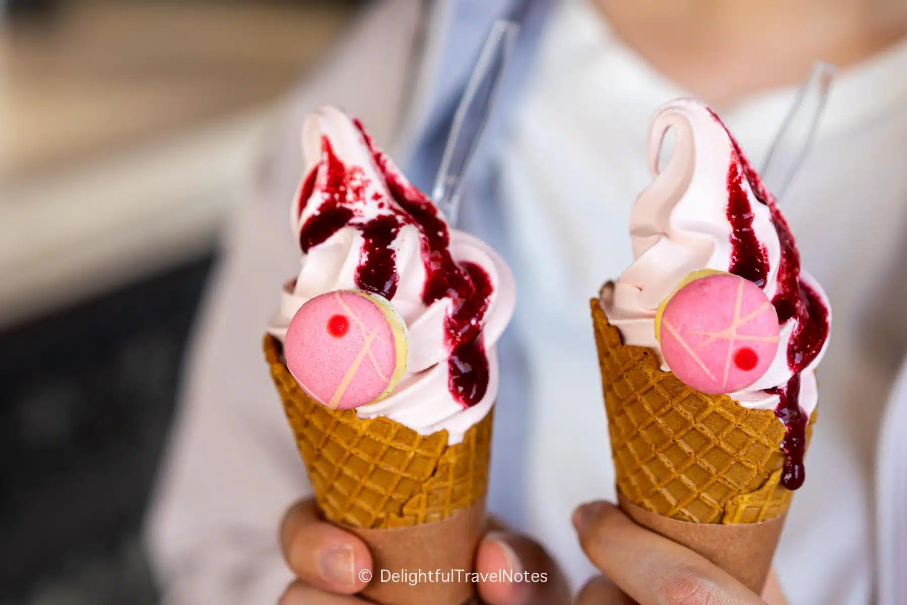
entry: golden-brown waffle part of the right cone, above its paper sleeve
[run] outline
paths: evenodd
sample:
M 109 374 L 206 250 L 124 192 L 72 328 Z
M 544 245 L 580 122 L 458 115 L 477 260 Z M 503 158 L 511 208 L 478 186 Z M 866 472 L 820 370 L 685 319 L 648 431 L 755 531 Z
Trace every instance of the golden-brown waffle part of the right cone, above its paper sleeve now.
M 785 514 L 785 425 L 728 395 L 707 395 L 624 345 L 591 300 L 617 487 L 627 501 L 685 522 L 755 523 Z M 812 419 L 814 420 L 814 418 Z M 812 434 L 812 422 L 807 439 Z

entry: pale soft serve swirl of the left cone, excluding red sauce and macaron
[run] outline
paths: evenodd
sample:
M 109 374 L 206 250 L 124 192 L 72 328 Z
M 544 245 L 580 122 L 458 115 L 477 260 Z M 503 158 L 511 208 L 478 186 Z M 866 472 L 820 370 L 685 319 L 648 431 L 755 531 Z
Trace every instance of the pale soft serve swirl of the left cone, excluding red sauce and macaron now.
M 361 133 L 353 122 L 333 107 L 323 107 L 310 114 L 303 125 L 302 146 L 306 166 L 304 174 L 322 170 L 322 137 L 331 142 L 336 156 L 347 166 L 358 166 L 363 171 L 365 195 L 361 209 L 366 219 L 386 212 L 378 200 L 394 203 L 385 178 Z M 319 175 L 320 177 L 320 175 Z M 305 180 L 304 180 L 305 181 Z M 297 204 L 293 204 L 291 223 L 298 235 L 302 225 L 320 210 L 321 191 L 318 178 L 305 210 L 297 220 Z M 300 190 L 302 185 L 300 184 Z M 297 199 L 298 199 L 297 191 Z M 503 259 L 479 239 L 450 230 L 450 250 L 457 262 L 470 261 L 482 267 L 491 279 L 493 294 L 484 315 L 483 341 L 488 357 L 488 389 L 476 405 L 463 409 L 448 387 L 447 359 L 450 356 L 445 344 L 444 319 L 451 306 L 449 298 L 442 298 L 430 307 L 422 302 L 426 273 L 420 251 L 420 235 L 412 225 L 405 225 L 392 243 L 399 282 L 392 300 L 404 318 L 408 334 L 406 374 L 394 392 L 375 404 L 356 408 L 360 418 L 383 415 L 405 424 L 419 434 L 436 431 L 448 432 L 448 443 L 463 440 L 463 434 L 478 423 L 491 410 L 498 390 L 498 358 L 495 343 L 513 315 L 516 287 L 510 268 Z M 302 268 L 292 289 L 285 287 L 281 294 L 280 311 L 271 320 L 268 332 L 281 342 L 287 335 L 290 320 L 307 300 L 337 289 L 359 289 L 356 286 L 356 267 L 359 265 L 363 237 L 358 229 L 345 227 L 321 244 L 313 246 L 302 255 Z

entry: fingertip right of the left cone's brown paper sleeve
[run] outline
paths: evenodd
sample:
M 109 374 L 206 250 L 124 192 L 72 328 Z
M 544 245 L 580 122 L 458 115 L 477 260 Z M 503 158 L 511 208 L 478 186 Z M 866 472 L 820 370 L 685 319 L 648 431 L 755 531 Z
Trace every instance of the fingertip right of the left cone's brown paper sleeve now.
M 479 594 L 488 605 L 558 605 L 570 602 L 561 571 L 540 545 L 511 532 L 485 535 L 476 552 Z M 509 572 L 505 573 L 505 572 Z M 496 577 L 492 577 L 496 574 Z

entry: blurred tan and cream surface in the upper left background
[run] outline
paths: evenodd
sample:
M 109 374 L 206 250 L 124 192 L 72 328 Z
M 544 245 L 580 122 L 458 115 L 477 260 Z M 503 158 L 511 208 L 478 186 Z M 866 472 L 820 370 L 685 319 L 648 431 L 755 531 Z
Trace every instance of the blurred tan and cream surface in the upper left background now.
M 0 327 L 210 251 L 350 5 L 79 2 L 0 30 Z

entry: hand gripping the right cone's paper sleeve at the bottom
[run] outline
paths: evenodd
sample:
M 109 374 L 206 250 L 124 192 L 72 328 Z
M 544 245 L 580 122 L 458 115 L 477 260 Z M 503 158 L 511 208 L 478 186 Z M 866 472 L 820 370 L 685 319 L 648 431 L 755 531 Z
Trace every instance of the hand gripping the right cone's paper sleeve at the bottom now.
M 580 591 L 577 605 L 783 605 L 774 577 L 763 600 L 697 553 L 639 527 L 613 504 L 596 502 L 573 513 L 582 550 L 603 577 Z

